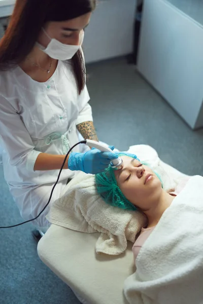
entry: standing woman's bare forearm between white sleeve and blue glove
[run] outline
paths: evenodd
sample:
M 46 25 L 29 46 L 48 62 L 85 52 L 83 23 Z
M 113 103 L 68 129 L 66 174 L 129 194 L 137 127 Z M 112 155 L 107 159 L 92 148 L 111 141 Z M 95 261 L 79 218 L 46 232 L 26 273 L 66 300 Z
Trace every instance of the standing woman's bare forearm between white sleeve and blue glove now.
M 62 167 L 65 155 L 52 155 L 47 153 L 40 153 L 35 166 L 35 171 L 47 171 L 47 170 L 59 170 Z M 68 169 L 67 162 L 69 157 L 67 157 L 63 169 Z

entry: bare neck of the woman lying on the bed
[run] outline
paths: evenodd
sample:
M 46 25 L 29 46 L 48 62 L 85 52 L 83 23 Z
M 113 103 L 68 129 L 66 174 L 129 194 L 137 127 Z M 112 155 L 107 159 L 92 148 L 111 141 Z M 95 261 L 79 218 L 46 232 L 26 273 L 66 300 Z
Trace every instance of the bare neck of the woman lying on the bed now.
M 163 212 L 171 205 L 174 198 L 162 190 L 158 200 L 156 199 L 156 202 L 152 202 L 152 207 L 149 210 L 144 211 L 148 218 L 148 227 L 153 227 L 158 223 Z

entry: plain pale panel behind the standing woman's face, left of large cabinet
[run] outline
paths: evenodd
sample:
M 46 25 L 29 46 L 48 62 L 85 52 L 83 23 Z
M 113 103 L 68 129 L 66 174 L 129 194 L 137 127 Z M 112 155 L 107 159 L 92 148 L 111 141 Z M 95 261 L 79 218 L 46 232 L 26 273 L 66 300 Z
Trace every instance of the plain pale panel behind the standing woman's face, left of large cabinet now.
M 85 31 L 86 63 L 132 53 L 136 7 L 137 0 L 98 1 Z

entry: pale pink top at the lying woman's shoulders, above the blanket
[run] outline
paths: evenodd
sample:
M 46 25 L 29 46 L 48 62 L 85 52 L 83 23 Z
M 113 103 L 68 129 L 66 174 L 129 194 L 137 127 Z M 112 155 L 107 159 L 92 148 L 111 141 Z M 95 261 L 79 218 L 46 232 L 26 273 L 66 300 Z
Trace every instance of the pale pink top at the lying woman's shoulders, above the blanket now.
M 190 179 L 190 177 L 186 177 L 184 178 L 176 187 L 174 192 L 170 192 L 170 194 L 172 196 L 177 196 L 179 193 L 181 193 L 181 191 L 183 190 L 183 188 L 185 187 L 186 183 L 188 182 L 188 180 Z M 150 227 L 150 228 L 142 228 L 141 230 L 141 234 L 138 237 L 138 239 L 136 240 L 136 242 L 134 243 L 134 245 L 132 246 L 132 252 L 134 255 L 134 262 L 136 263 L 136 258 L 140 252 L 140 249 L 142 248 L 143 244 L 145 243 L 145 241 L 147 240 L 147 238 L 150 236 L 150 234 L 152 233 L 152 231 L 154 230 L 156 226 Z

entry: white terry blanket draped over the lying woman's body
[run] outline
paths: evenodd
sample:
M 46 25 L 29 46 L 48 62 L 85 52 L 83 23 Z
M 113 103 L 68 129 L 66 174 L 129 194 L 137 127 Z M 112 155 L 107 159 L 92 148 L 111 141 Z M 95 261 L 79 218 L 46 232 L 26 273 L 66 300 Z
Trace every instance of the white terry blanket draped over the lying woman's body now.
M 125 281 L 130 304 L 203 303 L 203 177 L 191 177 L 163 213 Z

